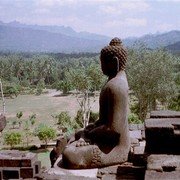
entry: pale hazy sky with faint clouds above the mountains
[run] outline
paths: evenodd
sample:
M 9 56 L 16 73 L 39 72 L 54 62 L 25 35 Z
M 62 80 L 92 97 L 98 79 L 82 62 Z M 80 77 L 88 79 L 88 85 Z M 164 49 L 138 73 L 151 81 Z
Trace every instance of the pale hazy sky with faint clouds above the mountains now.
M 0 0 L 0 20 L 124 38 L 180 30 L 180 0 Z

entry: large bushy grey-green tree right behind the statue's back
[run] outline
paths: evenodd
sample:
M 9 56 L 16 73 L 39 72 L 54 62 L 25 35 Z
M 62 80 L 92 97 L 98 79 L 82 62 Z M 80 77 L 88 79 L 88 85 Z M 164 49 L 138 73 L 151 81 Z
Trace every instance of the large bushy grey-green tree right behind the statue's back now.
M 162 49 L 150 50 L 144 45 L 129 51 L 128 82 L 138 99 L 141 120 L 156 109 L 157 100 L 165 103 L 174 93 L 173 59 Z

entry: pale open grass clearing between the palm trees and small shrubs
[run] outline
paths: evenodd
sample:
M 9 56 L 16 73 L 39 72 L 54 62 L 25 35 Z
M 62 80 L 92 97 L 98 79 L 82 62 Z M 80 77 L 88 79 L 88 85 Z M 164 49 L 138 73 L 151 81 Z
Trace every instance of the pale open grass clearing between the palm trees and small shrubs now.
M 68 111 L 73 118 L 78 109 L 79 104 L 75 95 L 62 96 L 60 91 L 48 90 L 49 93 L 36 95 L 19 95 L 14 99 L 6 99 L 6 117 L 8 121 L 16 118 L 16 113 L 22 111 L 22 119 L 28 119 L 29 115 L 36 114 L 38 123 L 46 123 L 53 125 L 52 115 L 59 114 L 62 111 Z M 93 104 L 92 110 L 98 112 L 98 98 Z

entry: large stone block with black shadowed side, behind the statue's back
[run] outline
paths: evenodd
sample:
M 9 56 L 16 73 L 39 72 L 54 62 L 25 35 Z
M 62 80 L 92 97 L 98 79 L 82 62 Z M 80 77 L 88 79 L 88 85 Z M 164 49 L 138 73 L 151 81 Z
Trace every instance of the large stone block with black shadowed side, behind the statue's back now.
M 180 154 L 180 118 L 145 120 L 145 136 L 145 152 Z

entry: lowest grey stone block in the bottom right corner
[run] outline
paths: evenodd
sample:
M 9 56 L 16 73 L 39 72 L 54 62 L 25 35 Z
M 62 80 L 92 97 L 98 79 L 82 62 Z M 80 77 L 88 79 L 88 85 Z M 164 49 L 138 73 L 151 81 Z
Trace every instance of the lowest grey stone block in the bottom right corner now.
M 157 172 L 157 171 L 146 171 L 145 180 L 179 180 L 180 172 Z

